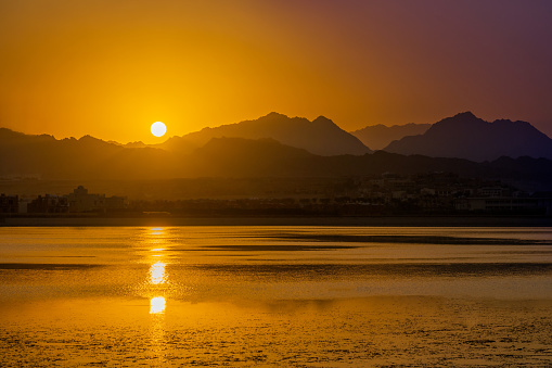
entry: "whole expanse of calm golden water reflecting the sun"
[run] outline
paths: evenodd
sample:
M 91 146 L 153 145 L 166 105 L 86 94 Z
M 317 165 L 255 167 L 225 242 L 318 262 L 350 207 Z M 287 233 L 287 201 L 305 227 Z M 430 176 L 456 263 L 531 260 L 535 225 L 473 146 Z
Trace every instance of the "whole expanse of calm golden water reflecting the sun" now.
M 552 366 L 552 229 L 0 228 L 0 361 Z

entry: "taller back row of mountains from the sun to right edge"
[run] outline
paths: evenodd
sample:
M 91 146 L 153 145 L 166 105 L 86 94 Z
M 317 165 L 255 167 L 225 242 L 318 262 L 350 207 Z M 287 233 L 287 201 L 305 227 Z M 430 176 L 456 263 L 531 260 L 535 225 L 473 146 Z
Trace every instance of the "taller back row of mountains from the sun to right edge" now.
M 282 144 L 304 149 L 312 154 L 334 156 L 362 155 L 381 149 L 406 155 L 458 157 L 476 162 L 501 156 L 552 158 L 552 140 L 526 122 L 499 119 L 485 122 L 471 112 L 447 117 L 435 124 L 383 125 L 347 132 L 326 117 L 312 122 L 270 113 L 256 120 L 204 128 L 182 137 L 169 138 L 151 145 L 178 153 L 192 153 L 214 138 L 271 138 Z M 145 147 L 141 142 L 127 148 Z

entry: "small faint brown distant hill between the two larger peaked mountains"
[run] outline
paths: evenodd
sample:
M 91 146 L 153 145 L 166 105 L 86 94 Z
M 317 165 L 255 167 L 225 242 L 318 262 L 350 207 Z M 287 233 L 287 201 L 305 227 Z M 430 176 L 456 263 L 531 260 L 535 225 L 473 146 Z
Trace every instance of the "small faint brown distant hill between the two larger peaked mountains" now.
M 410 123 L 388 127 L 377 124 L 350 131 L 350 134 L 360 139 L 364 145 L 370 147 L 372 150 L 382 150 L 394 140 L 399 140 L 407 136 L 423 135 L 431 126 L 431 124 Z

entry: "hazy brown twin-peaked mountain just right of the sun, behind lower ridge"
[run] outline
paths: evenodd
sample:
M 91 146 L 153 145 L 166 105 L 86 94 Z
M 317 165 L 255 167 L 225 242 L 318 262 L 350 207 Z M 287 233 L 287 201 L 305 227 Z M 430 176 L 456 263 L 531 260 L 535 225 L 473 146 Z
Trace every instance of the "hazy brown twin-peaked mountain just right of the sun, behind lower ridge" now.
M 159 148 L 192 152 L 203 147 L 213 138 L 272 138 L 282 144 L 305 149 L 310 153 L 323 156 L 338 154 L 362 155 L 372 152 L 355 136 L 339 128 L 329 118 L 317 117 L 309 122 L 304 117 L 287 117 L 270 113 L 256 120 L 205 128 L 183 137 L 172 137 Z

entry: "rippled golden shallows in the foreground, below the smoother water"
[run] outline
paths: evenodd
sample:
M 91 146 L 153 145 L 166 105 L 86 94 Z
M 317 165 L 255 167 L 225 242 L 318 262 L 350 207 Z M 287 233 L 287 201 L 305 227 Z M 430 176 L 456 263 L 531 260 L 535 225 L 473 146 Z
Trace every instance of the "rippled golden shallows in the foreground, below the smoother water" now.
M 552 364 L 552 301 L 372 296 L 2 307 L 2 367 Z

